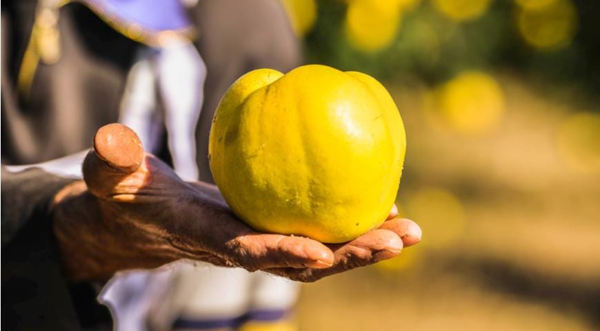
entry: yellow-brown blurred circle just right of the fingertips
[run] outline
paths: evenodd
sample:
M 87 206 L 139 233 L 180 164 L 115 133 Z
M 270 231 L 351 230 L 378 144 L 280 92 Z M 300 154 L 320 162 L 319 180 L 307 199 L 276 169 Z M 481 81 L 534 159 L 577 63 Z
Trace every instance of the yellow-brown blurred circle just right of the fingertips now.
M 452 192 L 443 188 L 421 188 L 403 206 L 406 211 L 403 215 L 419 223 L 423 230 L 419 245 L 445 248 L 460 239 L 465 228 L 465 212 Z

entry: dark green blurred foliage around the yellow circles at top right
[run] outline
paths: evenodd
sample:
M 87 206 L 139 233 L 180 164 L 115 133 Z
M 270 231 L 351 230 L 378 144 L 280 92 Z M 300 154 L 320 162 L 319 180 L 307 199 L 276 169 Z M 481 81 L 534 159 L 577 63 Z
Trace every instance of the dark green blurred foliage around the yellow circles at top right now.
M 577 1 L 574 5 L 581 13 L 588 2 Z M 600 70 L 600 29 L 597 19 L 586 12 L 579 15 L 581 28 L 570 43 L 557 49 L 536 50 L 519 35 L 515 23 L 518 7 L 513 1 L 494 1 L 481 17 L 455 22 L 424 0 L 416 8 L 401 12 L 394 42 L 379 52 L 368 53 L 353 48 L 346 39 L 345 2 L 321 0 L 318 4 L 317 23 L 306 36 L 308 62 L 359 70 L 384 80 L 416 76 L 430 84 L 446 81 L 461 70 L 503 68 L 543 80 L 577 83 L 589 91 L 600 87 L 600 75 L 590 74 Z M 590 31 L 594 26 L 596 32 Z

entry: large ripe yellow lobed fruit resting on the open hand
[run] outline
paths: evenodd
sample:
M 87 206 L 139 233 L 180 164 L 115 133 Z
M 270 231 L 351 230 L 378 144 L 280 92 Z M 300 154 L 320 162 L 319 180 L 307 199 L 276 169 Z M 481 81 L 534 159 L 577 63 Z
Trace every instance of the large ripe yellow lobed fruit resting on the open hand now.
M 402 119 L 378 81 L 309 65 L 233 83 L 208 157 L 230 208 L 255 230 L 341 243 L 386 219 L 405 152 Z

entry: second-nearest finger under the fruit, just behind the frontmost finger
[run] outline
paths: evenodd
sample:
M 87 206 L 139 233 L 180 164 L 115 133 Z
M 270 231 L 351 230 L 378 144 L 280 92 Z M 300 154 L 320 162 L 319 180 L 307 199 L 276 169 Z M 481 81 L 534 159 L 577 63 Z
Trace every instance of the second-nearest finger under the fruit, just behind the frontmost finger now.
M 274 268 L 267 272 L 295 281 L 317 281 L 323 277 L 390 259 L 402 250 L 402 241 L 388 230 L 372 230 L 343 245 L 334 245 L 334 264 L 326 269 Z

